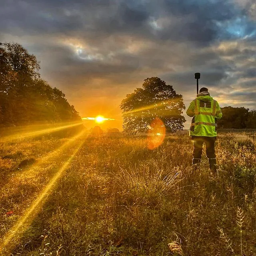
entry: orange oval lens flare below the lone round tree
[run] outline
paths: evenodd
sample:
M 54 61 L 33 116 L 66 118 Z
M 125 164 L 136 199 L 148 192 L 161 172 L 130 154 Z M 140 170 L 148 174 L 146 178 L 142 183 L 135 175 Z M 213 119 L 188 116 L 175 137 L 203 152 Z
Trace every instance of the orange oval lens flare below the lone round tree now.
M 147 133 L 148 149 L 159 147 L 164 141 L 166 129 L 163 121 L 156 117 L 150 124 L 151 129 Z

